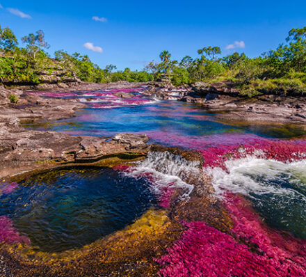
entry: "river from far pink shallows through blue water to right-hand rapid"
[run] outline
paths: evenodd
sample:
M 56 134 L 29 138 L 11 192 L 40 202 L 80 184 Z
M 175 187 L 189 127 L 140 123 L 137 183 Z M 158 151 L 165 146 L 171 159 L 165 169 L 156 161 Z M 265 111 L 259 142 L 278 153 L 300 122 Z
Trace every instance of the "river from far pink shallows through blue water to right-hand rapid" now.
M 141 88 L 129 90 L 134 93 L 129 99 L 116 97 L 113 91 L 69 95 L 41 93 L 45 97 L 69 97 L 88 104 L 88 108 L 77 111 L 74 118 L 28 122 L 24 127 L 74 136 L 147 134 L 150 143 L 198 150 L 207 161 L 204 171 L 211 177 L 218 197 L 223 198 L 226 192 L 241 193 L 252 201 L 268 225 L 306 239 L 305 129 L 296 125 L 218 122 L 216 114 L 195 104 L 178 102 L 176 95 L 172 100 L 159 101 L 149 99 L 141 91 Z M 248 145 L 246 148 L 252 151 L 233 155 L 232 150 L 241 145 Z M 290 150 L 290 156 L 286 157 L 289 148 L 298 150 Z M 269 155 L 264 154 L 266 149 Z M 287 152 L 283 153 L 285 150 Z M 229 153 L 232 158 L 220 159 Z M 297 159 L 292 158 L 297 156 Z M 145 199 L 150 197 L 145 195 Z M 138 208 L 141 214 L 147 206 L 143 204 Z M 139 213 L 133 214 L 133 219 L 135 216 Z

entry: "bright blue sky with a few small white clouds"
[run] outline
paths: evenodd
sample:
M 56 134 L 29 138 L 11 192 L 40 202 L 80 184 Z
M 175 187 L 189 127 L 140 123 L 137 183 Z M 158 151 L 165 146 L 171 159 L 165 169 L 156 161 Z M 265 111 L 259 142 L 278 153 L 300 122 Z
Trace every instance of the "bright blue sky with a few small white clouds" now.
M 259 56 L 306 26 L 306 1 L 0 0 L 0 24 L 19 39 L 43 30 L 51 55 L 64 49 L 101 68 L 142 70 L 163 50 L 176 60 L 207 46 Z

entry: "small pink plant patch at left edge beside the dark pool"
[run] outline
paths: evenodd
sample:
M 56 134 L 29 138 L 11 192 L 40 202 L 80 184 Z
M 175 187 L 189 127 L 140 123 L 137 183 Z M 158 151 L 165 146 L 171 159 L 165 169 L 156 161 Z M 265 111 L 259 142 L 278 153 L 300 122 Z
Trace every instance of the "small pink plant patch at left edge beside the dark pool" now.
M 17 232 L 11 219 L 7 216 L 0 216 L 0 242 L 6 242 L 6 244 L 13 244 L 14 242 L 30 244 L 30 239 Z

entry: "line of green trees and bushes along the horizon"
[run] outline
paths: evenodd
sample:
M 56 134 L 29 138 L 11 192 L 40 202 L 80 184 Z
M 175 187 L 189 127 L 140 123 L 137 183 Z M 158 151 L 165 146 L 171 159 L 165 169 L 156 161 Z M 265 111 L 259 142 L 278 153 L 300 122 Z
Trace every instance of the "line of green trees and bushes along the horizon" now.
M 49 44 L 42 30 L 22 38 L 25 47 L 19 47 L 13 31 L 0 26 L 0 81 L 39 84 L 40 74 L 61 72 L 61 78 L 78 77 L 82 81 L 171 81 L 175 86 L 197 81 L 212 83 L 231 81 L 243 95 L 258 95 L 265 91 L 306 93 L 306 26 L 291 29 L 284 43 L 261 56 L 248 57 L 234 52 L 221 56 L 218 46 L 204 46 L 195 52 L 195 58 L 184 56 L 172 59 L 170 52 L 159 54 L 160 61 L 148 63 L 142 71 L 115 65 L 104 69 L 80 53 L 56 51 L 54 58 L 47 53 Z M 117 70 L 117 71 L 116 71 Z

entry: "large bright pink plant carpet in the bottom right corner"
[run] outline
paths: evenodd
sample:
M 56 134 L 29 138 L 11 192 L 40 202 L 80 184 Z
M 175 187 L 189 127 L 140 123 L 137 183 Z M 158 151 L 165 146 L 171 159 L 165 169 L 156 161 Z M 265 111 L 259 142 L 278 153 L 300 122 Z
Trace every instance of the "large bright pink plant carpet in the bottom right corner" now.
M 234 228 L 225 234 L 204 222 L 188 230 L 159 259 L 161 276 L 306 276 L 306 242 L 265 226 L 246 200 L 227 196 Z

